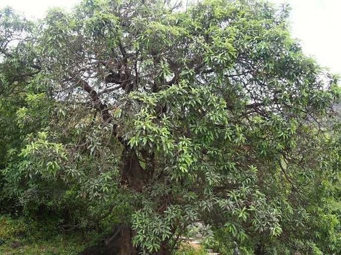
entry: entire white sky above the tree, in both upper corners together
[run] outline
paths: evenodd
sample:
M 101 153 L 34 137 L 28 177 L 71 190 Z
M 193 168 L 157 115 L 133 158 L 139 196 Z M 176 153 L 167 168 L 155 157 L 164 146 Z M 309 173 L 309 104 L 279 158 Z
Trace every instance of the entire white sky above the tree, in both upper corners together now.
M 79 0 L 0 0 L 27 17 L 43 17 L 48 7 L 71 9 Z M 271 0 L 289 3 L 291 31 L 301 40 L 306 54 L 314 56 L 323 67 L 341 74 L 341 0 Z

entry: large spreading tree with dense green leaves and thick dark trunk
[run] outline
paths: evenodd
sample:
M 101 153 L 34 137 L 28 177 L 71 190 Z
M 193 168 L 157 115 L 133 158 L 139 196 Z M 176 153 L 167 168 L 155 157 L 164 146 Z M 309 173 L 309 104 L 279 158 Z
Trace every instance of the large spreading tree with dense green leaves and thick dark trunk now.
M 257 254 L 340 251 L 340 89 L 287 16 L 255 0 L 3 10 L 1 203 L 112 224 L 120 255 L 168 254 L 198 221 Z

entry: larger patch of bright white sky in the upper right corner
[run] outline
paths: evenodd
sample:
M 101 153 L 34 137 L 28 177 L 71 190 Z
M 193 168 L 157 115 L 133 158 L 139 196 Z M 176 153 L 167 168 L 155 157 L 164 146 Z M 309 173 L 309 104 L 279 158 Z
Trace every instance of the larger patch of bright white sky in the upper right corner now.
M 289 3 L 291 31 L 321 66 L 341 74 L 341 0 L 272 0 Z

